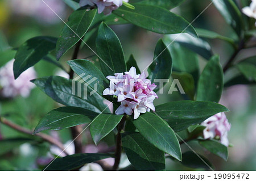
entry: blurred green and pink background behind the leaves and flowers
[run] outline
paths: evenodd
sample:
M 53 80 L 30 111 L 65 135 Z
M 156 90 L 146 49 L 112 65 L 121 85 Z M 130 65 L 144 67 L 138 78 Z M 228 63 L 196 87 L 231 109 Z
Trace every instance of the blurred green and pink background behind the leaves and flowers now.
M 67 22 L 68 16 L 72 9 L 65 5 L 61 0 L 45 0 L 53 10 Z M 201 11 L 209 5 L 210 1 L 187 0 L 183 5 L 175 8 L 174 12 L 182 15 L 188 22 L 192 22 Z M 11 53 L 6 55 L 2 53 L 3 47 L 16 48 L 24 41 L 34 36 L 47 35 L 58 37 L 64 23 L 40 0 L 0 0 L 0 61 L 2 58 L 11 57 Z M 233 32 L 220 13 L 212 5 L 193 23 L 196 28 L 205 28 L 216 31 L 221 35 L 233 36 Z M 131 24 L 111 26 L 117 33 L 126 58 L 133 54 L 141 70 L 152 61 L 156 42 L 162 35 L 148 32 L 142 28 L 135 27 Z M 95 49 L 96 34 L 88 40 L 90 47 Z M 220 55 L 221 64 L 225 64 L 232 52 L 232 47 L 221 40 L 210 40 L 209 45 L 212 47 L 214 54 Z M 256 54 L 256 48 L 242 50 L 237 57 L 237 61 L 243 57 L 249 57 Z M 52 52 L 54 55 L 55 52 Z M 65 61 L 70 60 L 72 49 L 68 51 L 60 60 L 60 63 L 68 70 Z M 84 46 L 80 50 L 79 58 L 93 56 L 93 52 Z M 207 61 L 198 56 L 201 71 Z M 97 60 L 95 60 L 97 61 Z M 256 61 L 256 60 L 255 60 Z M 35 65 L 38 77 L 48 75 L 66 76 L 65 72 L 47 61 L 40 61 Z M 225 79 L 232 75 L 228 71 Z M 167 85 L 167 87 L 170 85 Z M 192 149 L 205 155 L 216 170 L 256 170 L 256 86 L 255 85 L 235 85 L 225 87 L 220 103 L 228 107 L 230 112 L 226 113 L 232 124 L 229 132 L 229 140 L 233 147 L 229 148 L 229 159 L 227 162 L 221 158 L 208 153 L 197 142 L 189 142 Z M 172 100 L 183 100 L 179 92 L 174 94 L 159 95 L 155 104 L 162 104 Z M 34 88 L 28 96 L 23 98 L 18 96 L 11 100 L 0 100 L 1 115 L 5 115 L 9 120 L 25 128 L 33 130 L 40 118 L 46 115 L 53 108 L 61 106 L 51 100 L 47 95 L 38 88 Z M 69 129 L 63 131 L 47 132 L 53 137 L 60 139 L 64 143 L 71 141 Z M 185 132 L 180 133 L 185 137 Z M 7 138 L 28 137 L 13 129 L 0 124 L 0 170 L 40 170 L 46 165 L 54 155 L 60 150 L 46 142 L 27 142 L 11 143 L 5 141 Z M 85 152 L 94 153 L 114 144 L 113 135 L 104 138 L 103 142 L 96 148 L 90 138 L 90 134 L 82 134 Z M 9 151 L 1 151 L 3 148 L 10 148 Z M 186 145 L 182 145 L 183 150 L 189 150 Z M 73 151 L 73 145 L 68 149 Z M 109 160 L 113 163 L 113 160 Z M 123 157 L 123 166 L 127 165 L 127 158 Z M 97 165 L 89 165 L 84 170 L 97 170 Z M 167 170 L 191 170 L 182 166 L 180 163 L 167 159 Z

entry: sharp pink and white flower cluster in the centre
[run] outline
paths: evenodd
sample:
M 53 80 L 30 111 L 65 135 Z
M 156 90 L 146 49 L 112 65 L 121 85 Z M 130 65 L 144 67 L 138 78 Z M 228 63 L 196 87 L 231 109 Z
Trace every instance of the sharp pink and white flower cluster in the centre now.
M 121 102 L 115 114 L 132 115 L 134 113 L 134 119 L 137 119 L 140 113 L 155 111 L 153 102 L 158 98 L 154 92 L 156 85 L 146 79 L 144 71 L 137 75 L 136 69 L 132 67 L 125 74 L 116 73 L 107 78 L 110 80 L 110 88 L 105 89 L 103 95 L 115 95 L 117 101 Z

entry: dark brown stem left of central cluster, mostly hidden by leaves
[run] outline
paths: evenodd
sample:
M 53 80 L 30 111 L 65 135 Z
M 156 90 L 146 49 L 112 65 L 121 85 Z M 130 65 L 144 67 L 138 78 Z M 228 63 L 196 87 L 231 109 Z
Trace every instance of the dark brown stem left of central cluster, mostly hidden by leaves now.
M 77 42 L 73 56 L 72 56 L 72 60 L 77 59 L 81 42 L 82 42 L 81 40 Z M 69 78 L 73 79 L 73 75 L 74 75 L 74 71 L 70 69 Z M 71 127 L 71 136 L 72 136 L 72 139 L 74 140 L 75 153 L 82 153 L 82 138 L 81 138 L 81 135 L 79 136 L 81 131 L 82 131 L 81 125 L 77 125 L 76 127 Z

